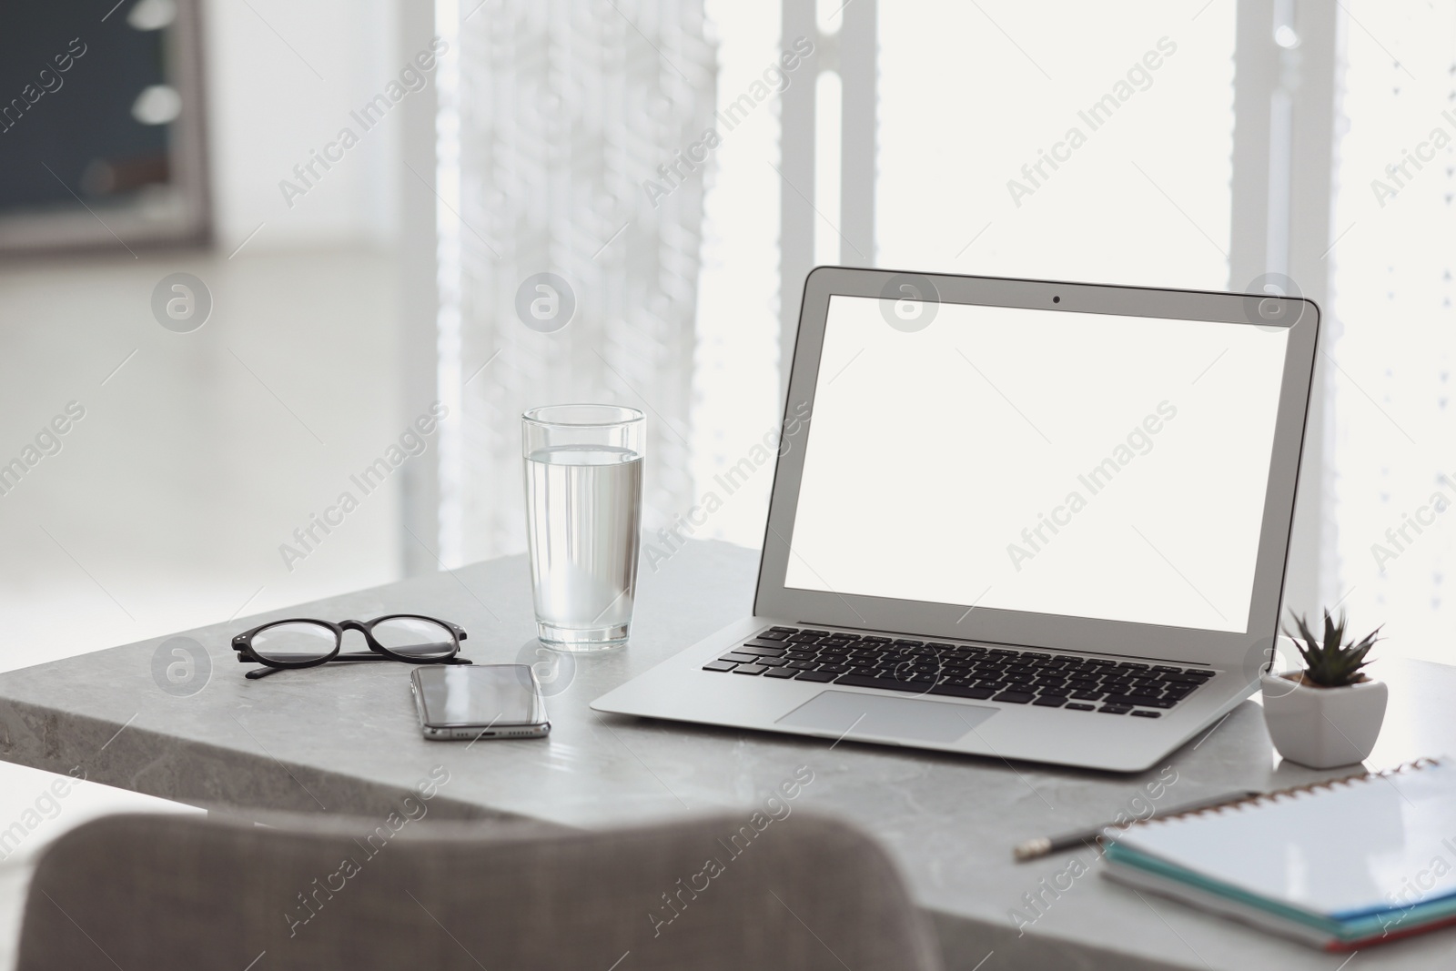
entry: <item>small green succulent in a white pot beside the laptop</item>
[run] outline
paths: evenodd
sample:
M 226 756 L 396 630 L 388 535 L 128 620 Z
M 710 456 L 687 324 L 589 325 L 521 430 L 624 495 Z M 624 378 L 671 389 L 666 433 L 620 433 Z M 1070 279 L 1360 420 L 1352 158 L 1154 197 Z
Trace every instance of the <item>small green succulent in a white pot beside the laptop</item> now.
M 1361 671 L 1379 639 L 1376 627 L 1360 641 L 1345 642 L 1345 617 L 1337 623 L 1325 611 L 1325 636 L 1318 639 L 1302 617 L 1299 636 L 1289 635 L 1305 658 L 1303 671 L 1262 675 L 1264 722 L 1274 747 L 1290 761 L 1332 769 L 1364 761 L 1385 721 L 1386 686 Z

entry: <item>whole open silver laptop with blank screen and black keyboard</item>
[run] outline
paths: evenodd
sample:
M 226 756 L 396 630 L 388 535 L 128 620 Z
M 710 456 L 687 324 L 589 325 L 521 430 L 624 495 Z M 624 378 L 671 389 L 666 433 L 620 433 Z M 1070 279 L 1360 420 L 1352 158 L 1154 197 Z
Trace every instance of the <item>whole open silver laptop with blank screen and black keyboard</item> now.
M 1318 330 L 1294 297 L 814 269 L 753 614 L 591 706 L 1152 767 L 1273 657 Z

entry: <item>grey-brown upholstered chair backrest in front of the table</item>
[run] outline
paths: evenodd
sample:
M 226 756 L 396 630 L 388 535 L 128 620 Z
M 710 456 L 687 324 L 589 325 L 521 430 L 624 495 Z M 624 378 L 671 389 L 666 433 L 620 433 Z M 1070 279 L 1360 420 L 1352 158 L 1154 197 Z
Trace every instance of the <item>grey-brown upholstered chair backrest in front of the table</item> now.
M 933 971 L 860 831 L 761 812 L 612 831 L 115 815 L 36 865 L 20 971 Z

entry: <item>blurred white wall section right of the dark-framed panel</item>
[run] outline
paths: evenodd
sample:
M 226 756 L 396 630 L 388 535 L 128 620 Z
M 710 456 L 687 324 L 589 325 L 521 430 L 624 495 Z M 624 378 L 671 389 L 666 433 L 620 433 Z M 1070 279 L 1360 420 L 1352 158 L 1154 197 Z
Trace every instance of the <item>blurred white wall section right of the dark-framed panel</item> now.
M 392 0 L 202 0 L 202 16 L 223 255 L 259 224 L 245 252 L 389 245 L 397 224 L 402 108 L 367 132 L 349 112 L 399 76 Z M 358 146 L 290 208 L 280 181 L 294 179 L 293 167 L 344 125 L 361 134 Z

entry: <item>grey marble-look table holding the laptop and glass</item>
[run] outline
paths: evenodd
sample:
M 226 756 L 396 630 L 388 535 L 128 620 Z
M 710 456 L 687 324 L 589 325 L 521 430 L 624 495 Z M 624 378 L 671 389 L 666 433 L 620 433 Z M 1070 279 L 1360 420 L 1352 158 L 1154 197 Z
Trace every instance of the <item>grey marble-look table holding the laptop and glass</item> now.
M 935 920 L 948 968 L 1341 967 L 1344 955 L 1101 879 L 1088 850 L 1010 860 L 1015 841 L 1109 820 L 1149 799 L 1156 782 L 1163 786 L 1153 786 L 1153 804 L 1166 806 L 1344 774 L 1280 764 L 1252 702 L 1142 776 L 831 745 L 588 708 L 745 613 L 756 566 L 750 550 L 690 543 L 655 572 L 644 569 L 632 643 L 550 675 L 549 740 L 428 742 L 402 665 L 338 664 L 248 681 L 229 648 L 232 633 L 265 619 L 408 610 L 463 625 L 476 662 L 537 661 L 524 558 L 513 556 L 185 632 L 205 654 L 179 684 L 166 668 L 178 664 L 173 677 L 186 677 L 185 655 L 173 654 L 186 642 L 169 639 L 0 674 L 0 757 L 60 773 L 79 767 L 98 782 L 226 812 L 377 820 L 444 766 L 448 783 L 431 801 L 431 818 L 530 817 L 571 827 L 721 808 L 741 808 L 747 821 L 770 789 L 807 766 L 812 782 L 792 808 L 847 817 L 891 849 Z M 1379 674 L 1390 683 L 1390 713 L 1367 764 L 1456 753 L 1456 670 L 1386 661 Z M 1073 856 L 1085 875 L 1070 875 L 1082 869 Z M 1358 968 L 1447 967 L 1453 951 L 1456 930 L 1447 930 L 1366 951 Z

